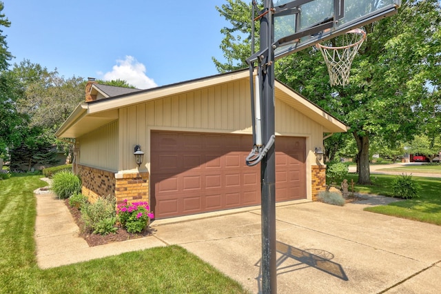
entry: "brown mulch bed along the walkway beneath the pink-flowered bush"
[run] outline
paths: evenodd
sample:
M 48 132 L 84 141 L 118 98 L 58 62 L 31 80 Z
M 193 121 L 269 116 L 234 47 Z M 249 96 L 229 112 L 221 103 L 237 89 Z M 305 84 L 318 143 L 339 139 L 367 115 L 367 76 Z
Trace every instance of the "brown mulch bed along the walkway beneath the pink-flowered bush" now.
M 139 239 L 153 235 L 154 230 L 152 228 L 147 228 L 141 231 L 141 233 L 133 234 L 128 233 L 127 231 L 125 231 L 125 229 L 121 227 L 118 227 L 118 231 L 116 231 L 116 233 L 110 233 L 107 235 L 92 234 L 92 232 L 87 232 L 85 230 L 83 220 L 81 219 L 80 210 L 78 208 L 70 206 L 69 199 L 65 199 L 65 204 L 66 206 L 68 206 L 68 209 L 70 210 L 70 213 L 72 214 L 76 225 L 80 228 L 79 236 L 85 239 L 90 247 L 110 244 L 113 242 L 122 242 L 130 239 Z

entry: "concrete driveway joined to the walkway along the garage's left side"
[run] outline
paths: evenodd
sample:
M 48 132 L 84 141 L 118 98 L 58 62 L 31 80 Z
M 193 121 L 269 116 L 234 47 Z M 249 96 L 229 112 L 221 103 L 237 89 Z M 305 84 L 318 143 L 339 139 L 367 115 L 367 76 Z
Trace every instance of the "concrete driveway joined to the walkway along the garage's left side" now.
M 41 268 L 177 244 L 260 292 L 258 207 L 158 220 L 154 236 L 89 248 L 63 201 L 50 193 L 36 197 Z M 278 293 L 441 293 L 441 226 L 365 212 L 395 201 L 365 197 L 343 207 L 278 206 Z

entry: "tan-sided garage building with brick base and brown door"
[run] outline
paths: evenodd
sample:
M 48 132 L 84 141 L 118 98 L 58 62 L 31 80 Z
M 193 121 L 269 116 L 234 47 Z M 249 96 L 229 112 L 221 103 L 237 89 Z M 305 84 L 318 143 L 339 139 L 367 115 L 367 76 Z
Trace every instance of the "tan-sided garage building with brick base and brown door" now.
M 314 200 L 325 190 L 314 150 L 347 126 L 278 81 L 275 104 L 276 200 Z M 89 81 L 85 103 L 56 135 L 75 139 L 74 170 L 92 199 L 147 201 L 156 219 L 260 204 L 260 164 L 245 164 L 253 144 L 247 70 L 148 90 Z

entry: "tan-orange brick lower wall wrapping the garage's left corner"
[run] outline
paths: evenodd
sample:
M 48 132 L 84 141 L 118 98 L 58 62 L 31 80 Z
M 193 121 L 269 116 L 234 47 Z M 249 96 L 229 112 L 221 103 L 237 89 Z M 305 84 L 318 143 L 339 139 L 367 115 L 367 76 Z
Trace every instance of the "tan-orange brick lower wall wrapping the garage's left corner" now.
M 91 202 L 98 197 L 114 195 L 116 205 L 127 202 L 149 202 L 149 173 L 112 173 L 79 164 L 77 173 L 83 183 L 82 193 Z

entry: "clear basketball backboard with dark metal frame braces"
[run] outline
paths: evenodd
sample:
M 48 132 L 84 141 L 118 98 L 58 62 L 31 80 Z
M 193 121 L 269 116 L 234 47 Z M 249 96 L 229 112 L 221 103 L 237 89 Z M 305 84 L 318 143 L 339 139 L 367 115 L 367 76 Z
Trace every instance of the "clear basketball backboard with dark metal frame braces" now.
M 274 0 L 274 59 L 395 14 L 401 0 Z

